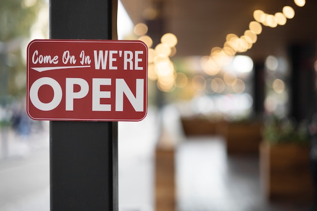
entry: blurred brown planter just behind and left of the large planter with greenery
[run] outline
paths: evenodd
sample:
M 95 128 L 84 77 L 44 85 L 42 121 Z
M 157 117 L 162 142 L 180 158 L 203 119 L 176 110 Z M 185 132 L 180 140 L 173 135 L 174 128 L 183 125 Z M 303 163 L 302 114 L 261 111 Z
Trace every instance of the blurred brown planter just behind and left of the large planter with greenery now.
M 227 122 L 222 124 L 228 154 L 258 155 L 262 123 Z

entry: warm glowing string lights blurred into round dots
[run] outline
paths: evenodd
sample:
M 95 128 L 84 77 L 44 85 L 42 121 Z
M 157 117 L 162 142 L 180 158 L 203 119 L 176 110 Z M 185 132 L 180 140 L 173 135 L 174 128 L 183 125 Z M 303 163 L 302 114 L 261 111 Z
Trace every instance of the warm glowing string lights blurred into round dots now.
M 305 0 L 294 0 L 298 7 L 305 5 Z M 285 6 L 282 12 L 267 14 L 262 10 L 255 10 L 253 17 L 255 21 L 249 23 L 247 29 L 242 36 L 229 33 L 226 35 L 226 41 L 223 48 L 214 47 L 210 56 L 203 57 L 201 66 L 208 75 L 217 75 L 221 68 L 232 61 L 236 53 L 246 52 L 256 43 L 258 35 L 262 33 L 262 25 L 268 27 L 276 27 L 285 25 L 287 19 L 292 19 L 295 16 L 295 11 L 290 6 Z M 172 33 L 166 33 L 161 37 L 161 43 L 155 48 L 151 48 L 153 40 L 147 36 L 147 26 L 144 23 L 138 23 L 134 27 L 134 33 L 139 36 L 148 46 L 148 77 L 151 80 L 157 80 L 157 87 L 164 92 L 170 92 L 175 87 L 183 88 L 186 86 L 188 78 L 184 73 L 176 73 L 173 62 L 169 59 L 176 54 L 177 37 Z M 317 66 L 317 65 L 316 65 Z M 316 68 L 317 69 L 317 68 Z M 193 81 L 205 81 L 203 87 L 206 87 L 206 79 L 203 76 L 193 77 Z M 281 82 L 276 81 L 281 87 Z M 245 90 L 245 83 L 241 79 L 237 79 L 234 73 L 225 73 L 224 80 L 214 78 L 211 80 L 211 89 L 215 93 L 222 93 L 225 90 L 225 85 L 232 86 L 235 93 L 242 93 Z M 197 87 L 196 90 L 201 90 L 202 87 Z M 283 86 L 282 86 L 283 87 Z M 278 90 L 278 89 L 276 89 Z

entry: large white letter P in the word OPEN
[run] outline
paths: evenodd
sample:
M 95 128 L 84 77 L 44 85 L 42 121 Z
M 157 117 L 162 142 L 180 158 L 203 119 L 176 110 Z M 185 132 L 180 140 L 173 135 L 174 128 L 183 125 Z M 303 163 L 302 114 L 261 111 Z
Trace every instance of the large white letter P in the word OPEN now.
M 79 85 L 81 90 L 74 92 L 74 85 Z M 89 91 L 88 82 L 83 78 L 66 78 L 66 111 L 74 110 L 74 99 L 84 98 Z

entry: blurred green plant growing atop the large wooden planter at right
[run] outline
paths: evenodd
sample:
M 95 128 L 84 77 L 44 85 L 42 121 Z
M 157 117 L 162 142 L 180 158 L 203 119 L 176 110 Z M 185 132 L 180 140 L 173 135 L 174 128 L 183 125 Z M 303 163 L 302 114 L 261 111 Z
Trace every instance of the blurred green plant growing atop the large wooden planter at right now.
M 273 117 L 266 122 L 262 132 L 263 139 L 270 144 L 307 144 L 308 131 L 305 121 L 296 123 L 292 119 Z

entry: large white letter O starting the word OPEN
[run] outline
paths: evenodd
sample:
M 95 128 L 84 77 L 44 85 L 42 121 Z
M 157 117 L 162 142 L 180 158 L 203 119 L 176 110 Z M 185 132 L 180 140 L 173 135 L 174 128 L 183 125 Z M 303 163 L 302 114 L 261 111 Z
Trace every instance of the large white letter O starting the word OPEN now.
M 54 97 L 52 101 L 49 103 L 43 103 L 38 98 L 38 90 L 43 85 L 49 85 L 53 88 Z M 56 80 L 50 77 L 41 77 L 34 81 L 34 83 L 32 84 L 30 88 L 29 95 L 30 95 L 30 100 L 32 104 L 37 109 L 42 111 L 50 111 L 56 108 L 60 104 L 62 100 L 63 92 L 62 92 L 62 88 L 60 87 L 59 83 Z

